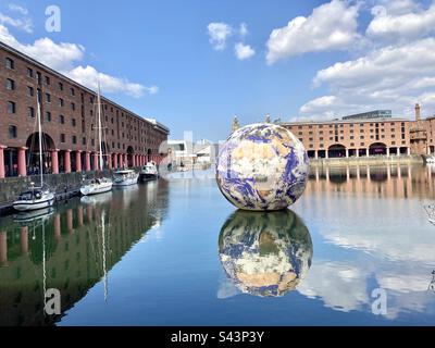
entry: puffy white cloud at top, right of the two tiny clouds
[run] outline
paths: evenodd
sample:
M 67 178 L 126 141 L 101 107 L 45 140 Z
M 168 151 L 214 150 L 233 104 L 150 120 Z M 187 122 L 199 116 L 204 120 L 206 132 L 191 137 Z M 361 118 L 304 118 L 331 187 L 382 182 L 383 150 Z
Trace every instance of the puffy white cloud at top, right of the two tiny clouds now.
M 332 0 L 315 8 L 308 17 L 291 20 L 287 26 L 274 29 L 270 35 L 268 63 L 306 52 L 349 48 L 359 37 L 357 17 L 357 5 Z

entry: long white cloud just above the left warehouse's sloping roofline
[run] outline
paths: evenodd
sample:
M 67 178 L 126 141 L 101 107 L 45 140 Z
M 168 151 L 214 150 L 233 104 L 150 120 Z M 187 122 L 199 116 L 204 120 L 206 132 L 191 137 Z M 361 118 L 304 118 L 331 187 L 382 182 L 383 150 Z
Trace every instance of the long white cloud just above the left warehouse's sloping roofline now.
M 157 86 L 146 87 L 140 84 L 130 83 L 126 78 L 100 73 L 89 65 L 77 65 L 85 55 L 85 48 L 80 45 L 69 42 L 57 44 L 49 38 L 37 39 L 32 45 L 21 44 L 3 25 L 0 25 L 0 41 L 67 75 L 70 78 L 88 88 L 96 89 L 99 79 L 101 89 L 104 92 L 121 92 L 139 98 L 146 94 L 153 95 L 159 91 Z

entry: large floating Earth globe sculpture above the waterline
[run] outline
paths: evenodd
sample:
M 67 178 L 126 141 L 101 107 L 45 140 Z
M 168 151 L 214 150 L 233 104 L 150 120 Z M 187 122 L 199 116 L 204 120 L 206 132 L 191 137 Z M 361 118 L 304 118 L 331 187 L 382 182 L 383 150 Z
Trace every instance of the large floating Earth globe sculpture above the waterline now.
M 217 186 L 237 208 L 281 210 L 295 203 L 308 179 L 308 156 L 291 132 L 274 124 L 252 124 L 221 146 Z

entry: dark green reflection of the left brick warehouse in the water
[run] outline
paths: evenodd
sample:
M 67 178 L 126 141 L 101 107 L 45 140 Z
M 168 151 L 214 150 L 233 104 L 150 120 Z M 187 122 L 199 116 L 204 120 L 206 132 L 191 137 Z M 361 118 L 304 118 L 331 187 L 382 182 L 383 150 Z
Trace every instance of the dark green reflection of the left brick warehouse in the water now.
M 109 272 L 151 226 L 161 223 L 158 220 L 164 219 L 167 207 L 164 197 L 167 185 L 164 182 L 161 185 L 160 194 L 144 192 L 127 209 L 121 195 L 114 195 L 109 202 L 79 204 L 78 199 L 73 200 L 47 221 L 45 250 L 40 225 L 17 224 L 11 220 L 2 224 L 0 325 L 46 325 L 59 320 L 44 315 L 44 260 L 46 286 L 60 290 L 64 313 L 101 281 L 104 272 Z M 161 201 L 157 202 L 157 198 Z

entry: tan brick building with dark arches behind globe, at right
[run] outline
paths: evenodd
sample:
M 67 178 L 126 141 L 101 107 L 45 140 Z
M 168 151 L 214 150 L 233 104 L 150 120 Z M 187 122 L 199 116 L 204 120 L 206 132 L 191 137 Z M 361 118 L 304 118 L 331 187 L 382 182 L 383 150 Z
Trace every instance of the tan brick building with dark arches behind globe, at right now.
M 281 123 L 304 145 L 308 156 L 349 158 L 364 156 L 430 154 L 435 150 L 435 117 L 347 119 Z

